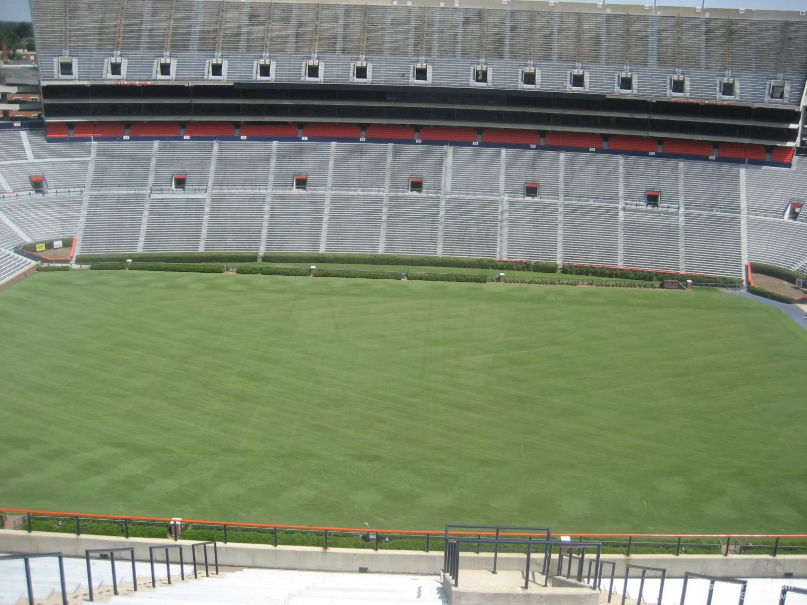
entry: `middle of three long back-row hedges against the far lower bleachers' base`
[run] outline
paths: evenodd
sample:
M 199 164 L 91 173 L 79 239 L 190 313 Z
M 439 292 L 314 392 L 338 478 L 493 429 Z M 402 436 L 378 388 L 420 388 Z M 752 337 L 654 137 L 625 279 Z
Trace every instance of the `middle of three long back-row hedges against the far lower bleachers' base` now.
M 396 254 L 337 254 L 329 252 L 266 252 L 265 263 L 337 263 L 342 265 L 409 265 L 413 267 L 459 267 L 558 273 L 557 263 L 496 261 L 491 258 L 419 257 Z

